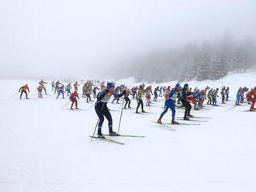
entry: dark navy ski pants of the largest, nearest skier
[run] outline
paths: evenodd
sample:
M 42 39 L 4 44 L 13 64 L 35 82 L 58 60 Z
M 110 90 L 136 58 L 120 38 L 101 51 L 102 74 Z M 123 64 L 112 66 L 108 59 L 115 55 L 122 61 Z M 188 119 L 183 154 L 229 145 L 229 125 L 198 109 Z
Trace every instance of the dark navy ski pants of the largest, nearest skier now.
M 102 124 L 104 122 L 104 116 L 109 121 L 109 131 L 112 132 L 112 116 L 109 112 L 109 108 L 106 103 L 99 102 L 95 104 L 95 111 L 99 117 L 98 129 L 102 129 Z

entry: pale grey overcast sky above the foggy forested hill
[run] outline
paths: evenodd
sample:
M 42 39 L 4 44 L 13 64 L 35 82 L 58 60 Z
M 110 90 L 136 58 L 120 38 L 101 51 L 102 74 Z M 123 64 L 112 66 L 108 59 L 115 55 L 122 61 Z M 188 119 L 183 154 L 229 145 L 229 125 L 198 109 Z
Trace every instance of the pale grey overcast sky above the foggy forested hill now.
M 123 57 L 226 31 L 255 39 L 255 0 L 2 0 L 0 74 L 104 77 Z

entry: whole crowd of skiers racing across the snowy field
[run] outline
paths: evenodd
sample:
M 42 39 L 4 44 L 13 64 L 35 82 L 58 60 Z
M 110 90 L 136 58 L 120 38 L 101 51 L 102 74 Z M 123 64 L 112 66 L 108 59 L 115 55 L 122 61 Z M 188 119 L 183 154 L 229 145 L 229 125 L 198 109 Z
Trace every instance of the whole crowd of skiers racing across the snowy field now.
M 47 84 L 47 82 L 41 80 L 38 84 L 38 98 L 43 98 L 42 91 L 44 91 L 44 93 L 47 94 L 47 89 L 44 86 L 44 84 Z M 64 98 L 64 94 L 67 92 L 67 97 L 69 97 L 71 101 L 71 110 L 73 110 L 74 105 L 75 108 L 78 109 L 77 99 L 79 99 L 79 86 L 80 85 L 78 84 L 78 82 L 75 82 L 73 84 L 74 91 L 73 93 L 71 93 L 71 90 L 73 89 L 71 83 L 68 83 L 66 86 L 64 86 L 64 84 L 62 84 L 60 81 L 51 82 L 52 91 L 54 92 L 54 94 L 57 94 L 57 98 L 59 98 L 60 95 L 62 96 L 62 98 Z M 102 81 L 98 86 L 95 85 L 93 81 L 86 81 L 82 87 L 81 97 L 86 98 L 87 102 L 92 101 L 92 97 L 96 98 L 95 112 L 99 116 L 98 135 L 102 137 L 103 135 L 101 129 L 104 117 L 106 117 L 109 122 L 109 134 L 116 134 L 116 132 L 112 131 L 112 117 L 109 112 L 109 108 L 106 105 L 112 95 L 114 96 L 112 103 L 116 101 L 117 104 L 119 103 L 119 98 L 123 97 L 123 102 L 125 102 L 124 109 L 131 108 L 131 95 L 133 99 L 137 100 L 137 114 L 140 114 L 140 108 L 141 113 L 146 112 L 144 111 L 144 98 L 146 101 L 146 105 L 150 106 L 152 104 L 152 101 L 157 101 L 158 97 L 164 97 L 164 111 L 161 113 L 157 122 L 161 123 L 161 118 L 170 108 L 172 112 L 172 124 L 178 124 L 178 122 L 175 121 L 175 108 L 185 108 L 183 120 L 189 120 L 189 118 L 193 117 L 190 114 L 192 105 L 194 110 L 199 110 L 203 107 L 204 101 L 208 100 L 206 103 L 207 105 L 216 106 L 217 98 L 219 98 L 219 88 L 213 89 L 207 86 L 205 89 L 202 90 L 200 90 L 197 87 L 195 87 L 195 89 L 192 90 L 192 87 L 189 87 L 189 84 L 184 84 L 183 87 L 180 84 L 176 84 L 175 87 L 173 88 L 171 88 L 170 86 L 157 86 L 154 88 L 154 92 L 152 91 L 151 86 L 146 87 L 144 83 L 140 84 L 137 87 L 131 87 L 130 89 L 127 88 L 124 84 L 120 86 L 115 86 L 115 84 L 112 82 L 105 83 L 104 81 Z M 20 87 L 20 98 L 22 98 L 22 94 L 25 94 L 26 99 L 28 99 L 27 91 L 29 92 L 28 84 Z M 221 88 L 220 96 L 222 104 L 225 104 L 225 101 L 229 101 L 229 93 L 229 87 L 224 86 Z M 154 96 L 152 101 L 151 96 Z M 245 100 L 247 100 L 247 102 L 251 104 L 250 111 L 254 111 L 254 104 L 256 101 L 256 87 L 252 88 L 251 90 L 249 90 L 249 88 L 247 87 L 240 87 L 238 89 L 235 105 L 240 105 L 240 103 L 243 103 Z

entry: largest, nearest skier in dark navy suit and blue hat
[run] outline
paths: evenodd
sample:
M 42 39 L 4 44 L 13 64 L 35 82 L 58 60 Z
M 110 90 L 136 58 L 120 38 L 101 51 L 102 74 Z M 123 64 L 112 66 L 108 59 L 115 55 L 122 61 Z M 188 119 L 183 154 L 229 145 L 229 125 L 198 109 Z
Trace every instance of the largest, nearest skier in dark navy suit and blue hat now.
M 120 98 L 123 96 L 123 94 L 126 94 L 126 90 L 124 90 L 122 94 L 117 94 L 115 91 L 113 91 L 113 89 L 114 84 L 112 82 L 109 82 L 107 84 L 107 87 L 99 92 L 97 101 L 95 102 L 95 111 L 99 116 L 98 136 L 101 138 L 104 138 L 104 136 L 102 135 L 102 124 L 104 122 L 104 116 L 109 121 L 109 135 L 117 135 L 116 132 L 112 131 L 112 116 L 109 112 L 109 108 L 107 107 L 107 103 L 109 101 L 109 98 L 111 98 L 112 94 Z

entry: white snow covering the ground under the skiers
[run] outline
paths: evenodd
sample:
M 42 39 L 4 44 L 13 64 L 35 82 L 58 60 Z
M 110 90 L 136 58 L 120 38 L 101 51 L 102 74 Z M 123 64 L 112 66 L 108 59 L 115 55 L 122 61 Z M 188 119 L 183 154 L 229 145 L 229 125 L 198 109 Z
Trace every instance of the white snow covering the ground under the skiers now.
M 88 135 L 97 122 L 93 102 L 87 104 L 84 98 L 78 101 L 85 111 L 70 111 L 70 105 L 61 109 L 68 102 L 67 96 L 56 99 L 48 84 L 50 95 L 36 98 L 37 82 L 0 81 L 0 191 L 256 190 L 256 113 L 244 111 L 250 107 L 247 104 L 227 111 L 234 105 L 238 87 L 255 86 L 255 73 L 223 78 L 223 84 L 230 87 L 231 101 L 192 111 L 192 115 L 212 117 L 205 118 L 207 122 L 189 122 L 201 125 L 170 125 L 176 129 L 170 131 L 150 122 L 161 114 L 163 98 L 155 106 L 145 107 L 152 113 L 149 115 L 124 110 L 120 133 L 146 136 L 113 138 L 125 142 L 124 146 L 97 139 L 90 142 Z M 118 83 L 122 82 L 134 84 L 132 79 Z M 26 83 L 31 89 L 29 100 L 20 101 L 19 95 L 9 98 Z M 220 87 L 221 80 L 191 81 L 189 85 Z M 117 130 L 121 105 L 108 105 L 119 110 L 111 111 L 113 129 Z M 132 100 L 132 107 L 136 105 Z M 183 113 L 177 109 L 176 117 Z M 168 111 L 163 122 L 170 119 Z M 107 131 L 105 121 L 103 132 Z

